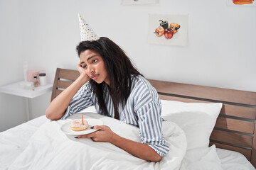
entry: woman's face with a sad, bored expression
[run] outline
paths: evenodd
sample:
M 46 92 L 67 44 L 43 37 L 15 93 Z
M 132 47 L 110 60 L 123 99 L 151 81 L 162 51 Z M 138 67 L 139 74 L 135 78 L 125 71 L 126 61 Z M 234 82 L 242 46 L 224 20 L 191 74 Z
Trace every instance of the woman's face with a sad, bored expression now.
M 105 68 L 105 62 L 97 52 L 85 50 L 80 54 L 80 64 L 85 73 L 98 84 L 105 81 L 110 86 L 110 79 Z

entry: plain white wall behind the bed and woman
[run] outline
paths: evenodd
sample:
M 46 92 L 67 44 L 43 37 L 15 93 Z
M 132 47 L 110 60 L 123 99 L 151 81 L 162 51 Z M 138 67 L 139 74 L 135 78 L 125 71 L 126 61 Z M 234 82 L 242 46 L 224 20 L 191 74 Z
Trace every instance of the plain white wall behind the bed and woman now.
M 121 0 L 0 0 L 0 86 L 29 69 L 75 69 L 80 41 L 78 13 L 97 35 L 117 42 L 149 79 L 256 91 L 256 7 L 225 0 L 159 0 L 122 6 Z M 148 13 L 188 13 L 186 47 L 149 45 Z M 0 131 L 26 121 L 24 99 L 0 94 Z M 43 115 L 50 93 L 29 100 L 31 118 Z

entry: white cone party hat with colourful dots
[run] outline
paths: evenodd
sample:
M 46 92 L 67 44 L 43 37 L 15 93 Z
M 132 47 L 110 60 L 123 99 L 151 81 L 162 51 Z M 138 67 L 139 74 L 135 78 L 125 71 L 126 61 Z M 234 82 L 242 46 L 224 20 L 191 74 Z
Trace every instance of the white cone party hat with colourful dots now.
M 78 14 L 79 18 L 79 26 L 81 33 L 81 41 L 93 41 L 98 40 L 99 37 L 95 34 L 95 32 L 90 28 L 90 26 L 85 22 L 85 20 Z

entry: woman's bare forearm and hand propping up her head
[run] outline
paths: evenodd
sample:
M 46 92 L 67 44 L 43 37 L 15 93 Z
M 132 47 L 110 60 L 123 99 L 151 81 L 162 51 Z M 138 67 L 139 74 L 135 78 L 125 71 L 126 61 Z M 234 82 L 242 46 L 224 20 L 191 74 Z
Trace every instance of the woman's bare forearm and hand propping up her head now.
M 90 77 L 88 77 L 87 74 L 83 72 L 80 64 L 78 64 L 77 69 L 80 72 L 80 77 L 78 77 L 78 79 L 76 79 L 73 84 L 68 86 L 67 89 L 65 89 L 61 94 L 53 99 L 53 101 L 46 109 L 46 118 L 50 120 L 60 119 L 64 115 L 66 108 L 68 108 L 68 105 L 73 96 L 75 96 L 76 92 L 78 92 L 82 85 L 84 85 L 90 79 Z

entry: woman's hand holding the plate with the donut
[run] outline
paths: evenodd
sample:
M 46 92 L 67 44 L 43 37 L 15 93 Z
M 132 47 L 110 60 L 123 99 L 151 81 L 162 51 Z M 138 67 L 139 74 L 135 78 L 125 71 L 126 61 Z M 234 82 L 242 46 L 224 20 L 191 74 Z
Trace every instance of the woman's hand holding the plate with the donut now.
M 95 142 L 110 142 L 112 140 L 112 137 L 116 135 L 110 127 L 106 125 L 95 125 L 94 128 L 97 130 L 96 132 L 92 132 L 87 135 L 80 135 L 78 138 L 92 138 Z

